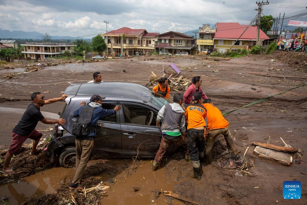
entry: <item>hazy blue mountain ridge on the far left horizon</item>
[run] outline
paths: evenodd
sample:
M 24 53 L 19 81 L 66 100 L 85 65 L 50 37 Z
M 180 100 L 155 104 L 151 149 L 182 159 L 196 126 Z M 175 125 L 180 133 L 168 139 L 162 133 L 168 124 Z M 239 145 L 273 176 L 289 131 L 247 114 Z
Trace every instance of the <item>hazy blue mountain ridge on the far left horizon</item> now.
M 12 39 L 42 39 L 42 36 L 39 32 L 27 32 L 27 31 L 9 31 L 0 29 L 0 39 L 12 38 Z M 73 38 L 71 36 L 52 36 L 51 39 L 67 39 Z

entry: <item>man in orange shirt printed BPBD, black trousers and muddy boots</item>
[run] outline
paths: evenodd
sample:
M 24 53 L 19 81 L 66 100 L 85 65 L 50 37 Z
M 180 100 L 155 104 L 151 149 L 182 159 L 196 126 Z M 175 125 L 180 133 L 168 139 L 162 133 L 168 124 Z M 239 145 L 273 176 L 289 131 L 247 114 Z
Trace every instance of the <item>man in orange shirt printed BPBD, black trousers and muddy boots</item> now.
M 201 105 L 201 94 L 193 93 L 191 104 L 185 107 L 185 120 L 188 124 L 187 142 L 190 152 L 193 173 L 192 178 L 201 178 L 200 160 L 204 158 L 204 128 L 206 127 L 206 108 Z M 200 157 L 200 158 L 199 158 Z

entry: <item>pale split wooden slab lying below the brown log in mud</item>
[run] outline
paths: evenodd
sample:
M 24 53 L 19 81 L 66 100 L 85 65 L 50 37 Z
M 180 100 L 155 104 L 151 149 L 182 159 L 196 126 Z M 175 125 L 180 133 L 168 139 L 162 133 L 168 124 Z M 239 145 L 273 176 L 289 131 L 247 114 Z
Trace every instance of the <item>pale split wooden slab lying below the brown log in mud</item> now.
M 271 149 L 262 148 L 256 146 L 254 153 L 258 155 L 260 159 L 269 160 L 278 164 L 290 166 L 292 164 L 292 156 L 287 153 L 277 152 Z

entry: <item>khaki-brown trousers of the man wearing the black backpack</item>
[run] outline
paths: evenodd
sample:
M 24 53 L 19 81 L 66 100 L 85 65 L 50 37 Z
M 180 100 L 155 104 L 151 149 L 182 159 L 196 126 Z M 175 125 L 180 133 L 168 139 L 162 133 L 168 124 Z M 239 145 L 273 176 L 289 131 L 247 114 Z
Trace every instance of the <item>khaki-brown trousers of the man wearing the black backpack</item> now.
M 76 174 L 72 179 L 73 184 L 81 181 L 85 167 L 90 159 L 94 140 L 77 140 L 76 139 Z

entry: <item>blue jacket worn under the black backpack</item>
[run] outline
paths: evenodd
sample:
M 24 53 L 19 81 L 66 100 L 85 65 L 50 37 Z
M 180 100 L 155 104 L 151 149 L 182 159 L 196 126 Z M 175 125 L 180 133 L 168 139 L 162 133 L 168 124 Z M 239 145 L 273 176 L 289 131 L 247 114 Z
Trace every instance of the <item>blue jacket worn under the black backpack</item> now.
M 83 106 L 89 106 L 89 105 L 83 105 Z M 79 117 L 80 116 L 80 113 L 81 113 L 81 110 L 83 108 L 83 106 L 81 106 L 79 109 L 77 109 L 75 112 L 74 112 L 74 117 Z M 89 106 L 90 107 L 90 106 Z M 106 110 L 106 109 L 103 109 L 102 107 L 96 107 L 94 108 L 94 112 L 93 112 L 93 115 L 92 115 L 92 120 L 91 120 L 91 125 L 95 125 L 96 122 L 101 119 L 101 118 L 104 118 L 104 117 L 107 117 L 107 116 L 111 116 L 115 113 L 116 111 L 115 110 Z M 95 139 L 95 136 L 96 136 L 96 133 L 95 132 L 90 132 L 86 137 L 80 137 L 80 136 L 76 136 L 76 139 L 79 139 L 79 140 L 94 140 Z

